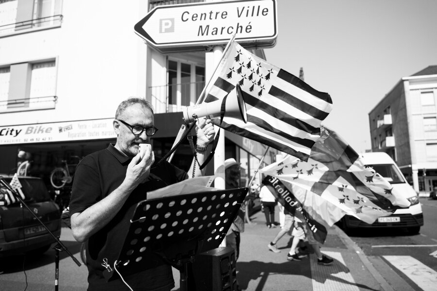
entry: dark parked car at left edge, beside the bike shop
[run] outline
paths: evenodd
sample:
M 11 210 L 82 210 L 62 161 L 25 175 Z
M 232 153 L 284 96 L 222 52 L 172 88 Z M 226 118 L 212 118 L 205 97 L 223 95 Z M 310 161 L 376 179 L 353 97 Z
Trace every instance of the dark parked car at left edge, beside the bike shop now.
M 6 182 L 12 176 L 2 175 Z M 18 176 L 25 195 L 23 200 L 37 217 L 57 237 L 61 235 L 61 211 L 51 199 L 40 178 Z M 0 196 L 7 194 L 6 187 L 0 184 Z M 2 203 L 5 204 L 5 203 Z M 50 233 L 36 220 L 20 202 L 0 206 L 0 257 L 20 253 L 44 253 L 55 242 Z

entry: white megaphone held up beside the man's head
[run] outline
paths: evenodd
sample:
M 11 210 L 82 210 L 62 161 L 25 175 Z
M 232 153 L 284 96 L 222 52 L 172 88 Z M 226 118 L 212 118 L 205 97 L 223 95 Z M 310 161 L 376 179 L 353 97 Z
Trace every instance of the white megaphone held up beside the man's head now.
M 244 96 L 240 85 L 237 84 L 235 89 L 229 92 L 225 98 L 224 116 L 237 118 L 244 121 L 244 123 L 247 123 L 246 103 L 244 103 Z M 185 123 L 188 124 L 193 122 L 193 115 L 197 116 L 196 118 L 207 116 L 209 119 L 220 117 L 221 105 L 222 100 L 217 100 L 209 103 L 187 106 L 183 111 Z

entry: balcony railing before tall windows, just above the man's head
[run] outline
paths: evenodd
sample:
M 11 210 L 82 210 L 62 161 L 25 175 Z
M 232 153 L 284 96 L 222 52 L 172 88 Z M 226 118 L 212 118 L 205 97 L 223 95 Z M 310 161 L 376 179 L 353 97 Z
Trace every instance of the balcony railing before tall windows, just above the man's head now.
M 205 82 L 167 84 L 148 87 L 148 96 L 155 113 L 181 112 L 183 107 L 196 103 Z

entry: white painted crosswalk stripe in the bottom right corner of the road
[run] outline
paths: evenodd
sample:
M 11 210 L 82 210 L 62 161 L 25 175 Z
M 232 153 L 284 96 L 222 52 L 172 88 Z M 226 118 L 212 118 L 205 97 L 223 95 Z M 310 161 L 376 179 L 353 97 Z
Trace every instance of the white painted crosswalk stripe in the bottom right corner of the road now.
M 423 291 L 435 291 L 437 272 L 411 256 L 382 256 Z

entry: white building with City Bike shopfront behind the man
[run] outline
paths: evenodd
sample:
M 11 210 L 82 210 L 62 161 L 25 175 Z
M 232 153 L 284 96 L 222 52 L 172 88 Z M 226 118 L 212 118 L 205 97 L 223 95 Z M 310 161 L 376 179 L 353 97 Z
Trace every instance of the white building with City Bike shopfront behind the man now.
M 27 160 L 30 175 L 48 186 L 55 167 L 73 174 L 82 157 L 115 142 L 116 108 L 133 96 L 154 106 L 159 131 L 151 143 L 164 156 L 184 123 L 182 109 L 203 89 L 206 53 L 159 53 L 134 25 L 156 5 L 187 2 L 199 1 L 0 0 L 0 173 Z M 225 132 L 225 158 L 242 163 L 243 180 L 266 149 Z M 192 158 L 185 141 L 172 163 L 187 170 Z

